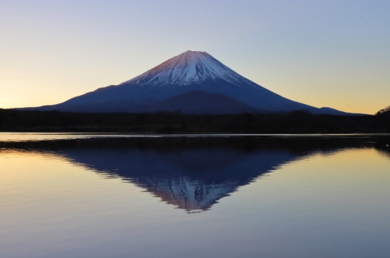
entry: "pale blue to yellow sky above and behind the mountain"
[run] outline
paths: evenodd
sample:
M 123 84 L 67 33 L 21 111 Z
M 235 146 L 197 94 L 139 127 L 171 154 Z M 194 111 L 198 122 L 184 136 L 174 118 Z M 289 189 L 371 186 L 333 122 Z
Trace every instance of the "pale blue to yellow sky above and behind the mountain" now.
M 390 105 L 389 0 L 0 0 L 0 108 L 58 104 L 187 50 L 314 107 Z

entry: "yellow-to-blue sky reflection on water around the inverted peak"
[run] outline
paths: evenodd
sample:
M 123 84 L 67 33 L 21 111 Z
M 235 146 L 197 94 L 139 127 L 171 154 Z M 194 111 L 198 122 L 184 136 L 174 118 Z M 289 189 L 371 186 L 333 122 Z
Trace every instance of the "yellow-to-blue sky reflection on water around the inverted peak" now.
M 190 215 L 59 155 L 2 150 L 0 164 L 3 257 L 389 253 L 389 158 L 373 148 L 308 155 Z

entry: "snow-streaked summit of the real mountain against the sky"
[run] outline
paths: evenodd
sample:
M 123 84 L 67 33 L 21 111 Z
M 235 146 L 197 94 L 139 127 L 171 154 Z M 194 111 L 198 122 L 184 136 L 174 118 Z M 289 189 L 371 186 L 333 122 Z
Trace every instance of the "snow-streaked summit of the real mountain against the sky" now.
M 166 84 L 189 85 L 215 78 L 239 84 L 242 76 L 206 52 L 189 50 L 122 84 L 155 85 L 162 81 Z

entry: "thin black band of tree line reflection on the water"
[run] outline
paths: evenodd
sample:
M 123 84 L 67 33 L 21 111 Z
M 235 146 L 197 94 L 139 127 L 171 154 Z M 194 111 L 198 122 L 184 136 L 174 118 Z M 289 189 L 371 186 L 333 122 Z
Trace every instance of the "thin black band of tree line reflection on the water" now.
M 75 136 L 75 135 L 73 135 Z M 85 138 L 80 134 L 77 139 L 24 141 L 24 142 L 0 142 L 0 147 L 28 148 L 45 151 L 65 149 L 137 149 L 153 150 L 156 152 L 175 152 L 188 149 L 225 149 L 234 152 L 249 153 L 253 151 L 278 151 L 284 150 L 291 153 L 309 153 L 316 150 L 331 151 L 343 147 L 369 147 L 386 144 L 390 136 L 386 135 L 313 135 L 313 136 L 267 136 L 267 135 L 236 135 L 236 136 L 162 136 L 162 135 L 128 135 L 120 136 L 96 135 L 95 138 Z M 103 137 L 101 137 L 103 136 Z M 113 137 L 114 136 L 114 137 Z M 66 137 L 66 136 L 64 136 Z

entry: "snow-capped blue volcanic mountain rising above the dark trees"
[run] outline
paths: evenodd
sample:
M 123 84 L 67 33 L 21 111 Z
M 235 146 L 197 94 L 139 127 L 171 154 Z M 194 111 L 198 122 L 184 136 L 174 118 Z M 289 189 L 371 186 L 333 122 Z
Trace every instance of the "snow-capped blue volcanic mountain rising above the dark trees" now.
M 187 51 L 119 85 L 99 88 L 63 103 L 29 110 L 76 112 L 347 114 L 292 101 L 237 74 L 206 52 Z

